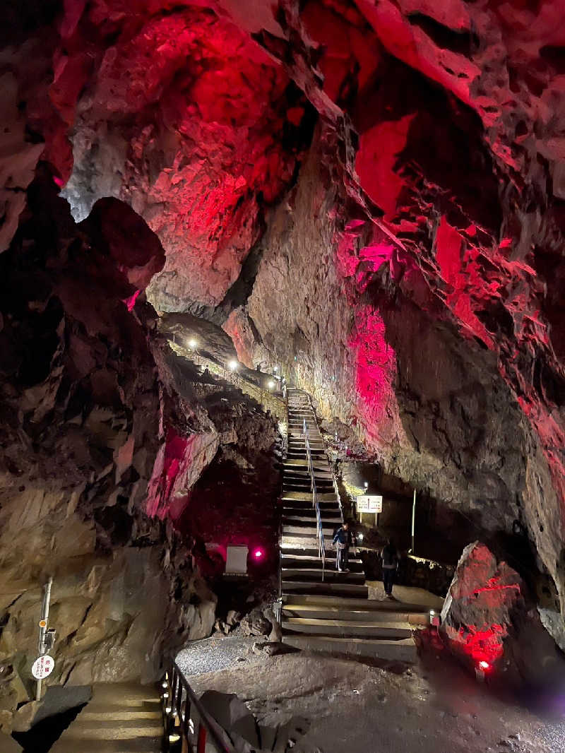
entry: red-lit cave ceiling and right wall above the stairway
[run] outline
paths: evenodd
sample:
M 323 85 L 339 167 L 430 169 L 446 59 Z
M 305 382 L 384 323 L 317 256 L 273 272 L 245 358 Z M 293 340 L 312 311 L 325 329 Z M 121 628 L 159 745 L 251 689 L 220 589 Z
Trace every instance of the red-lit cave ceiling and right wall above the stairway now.
M 333 380 L 318 390 L 325 417 L 351 422 L 389 456 L 390 448 L 421 454 L 433 444 L 417 426 L 424 409 L 410 394 L 410 369 L 429 357 L 423 350 L 417 363 L 419 339 L 437 367 L 420 394 L 476 372 L 469 394 L 473 385 L 480 394 L 456 406 L 461 423 L 481 425 L 509 404 L 502 425 L 491 421 L 489 431 L 495 438 L 505 427 L 531 431 L 521 453 L 539 456 L 547 471 L 533 480 L 522 459 L 521 470 L 495 473 L 505 459 L 508 468 L 511 436 L 481 484 L 505 486 L 493 499 L 539 487 L 539 520 L 532 513 L 527 523 L 558 579 L 565 569 L 562 4 L 28 0 L 16 7 L 0 11 L 12 32 L 0 53 L 2 247 L 40 160 L 75 221 L 101 197 L 129 204 L 163 245 L 163 269 L 152 270 L 147 289 L 158 313 L 206 312 L 247 365 L 259 357 L 289 363 L 312 392 Z M 141 272 L 139 279 L 145 287 Z M 307 288 L 316 294 L 308 297 Z M 454 352 L 460 361 L 446 369 Z M 449 434 L 440 398 L 426 407 L 436 437 Z M 467 449 L 481 441 L 460 439 Z M 462 457 L 452 438 L 447 444 L 430 456 L 441 470 L 449 450 L 460 473 L 454 488 L 463 477 L 472 483 L 472 453 Z M 483 456 L 496 455 L 491 444 Z

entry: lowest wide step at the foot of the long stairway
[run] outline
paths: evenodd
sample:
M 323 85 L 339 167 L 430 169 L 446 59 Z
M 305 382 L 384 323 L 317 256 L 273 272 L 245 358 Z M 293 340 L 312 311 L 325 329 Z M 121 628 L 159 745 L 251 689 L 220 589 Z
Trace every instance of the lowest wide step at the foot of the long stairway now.
M 328 654 L 347 654 L 387 661 L 414 663 L 417 660 L 416 644 L 409 639 L 369 639 L 324 636 L 282 636 L 286 645 L 302 651 L 324 651 Z

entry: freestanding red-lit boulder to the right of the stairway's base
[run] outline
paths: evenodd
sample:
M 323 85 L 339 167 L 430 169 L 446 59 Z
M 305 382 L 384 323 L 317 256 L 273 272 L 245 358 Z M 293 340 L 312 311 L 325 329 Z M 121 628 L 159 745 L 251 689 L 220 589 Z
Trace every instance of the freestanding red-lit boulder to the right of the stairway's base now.
M 441 610 L 441 630 L 458 657 L 476 667 L 502 659 L 512 631 L 513 613 L 524 608 L 518 573 L 478 541 L 469 544 L 457 565 Z

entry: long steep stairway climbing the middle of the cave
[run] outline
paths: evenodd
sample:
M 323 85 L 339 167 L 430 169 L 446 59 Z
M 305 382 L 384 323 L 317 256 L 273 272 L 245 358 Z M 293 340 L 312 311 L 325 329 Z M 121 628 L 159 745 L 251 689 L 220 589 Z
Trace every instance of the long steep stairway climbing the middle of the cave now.
M 307 392 L 289 389 L 289 449 L 282 477 L 282 633 L 296 648 L 414 661 L 411 610 L 395 602 L 368 600 L 361 559 L 337 572 L 331 548 L 342 523 L 334 477 Z M 312 478 L 304 437 L 307 425 L 313 476 L 325 543 L 325 568 L 316 536 Z

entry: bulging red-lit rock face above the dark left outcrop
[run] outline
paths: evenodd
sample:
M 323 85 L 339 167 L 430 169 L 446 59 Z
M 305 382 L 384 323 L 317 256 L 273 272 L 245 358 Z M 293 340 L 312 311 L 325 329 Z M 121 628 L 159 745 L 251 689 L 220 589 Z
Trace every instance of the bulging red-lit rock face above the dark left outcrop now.
M 62 32 L 51 96 L 72 126 L 75 216 L 128 201 L 166 252 L 154 306 L 220 303 L 291 181 L 304 96 L 212 8 L 69 3 Z

